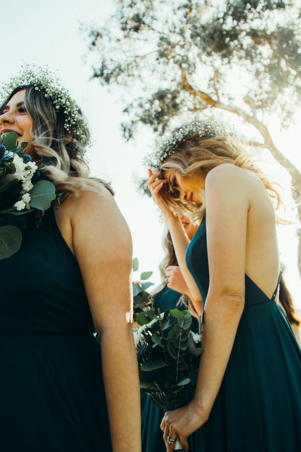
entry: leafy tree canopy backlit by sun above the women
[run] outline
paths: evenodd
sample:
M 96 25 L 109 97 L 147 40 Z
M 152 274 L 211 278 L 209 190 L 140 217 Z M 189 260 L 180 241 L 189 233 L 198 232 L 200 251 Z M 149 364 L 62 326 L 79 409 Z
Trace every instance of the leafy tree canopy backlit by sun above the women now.
M 127 140 L 140 123 L 162 134 L 175 117 L 199 119 L 221 105 L 254 118 L 277 112 L 286 127 L 301 103 L 296 1 L 119 0 L 89 39 L 93 77 L 131 96 Z

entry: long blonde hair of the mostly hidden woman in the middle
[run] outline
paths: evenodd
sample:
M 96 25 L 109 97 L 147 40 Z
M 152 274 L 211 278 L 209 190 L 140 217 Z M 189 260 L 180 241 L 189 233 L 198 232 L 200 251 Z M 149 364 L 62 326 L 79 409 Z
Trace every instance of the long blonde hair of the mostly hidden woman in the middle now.
M 167 229 L 167 232 L 163 236 L 162 246 L 163 246 L 163 249 L 165 250 L 165 256 L 159 265 L 159 270 L 160 270 L 160 274 L 161 274 L 161 283 L 159 284 L 159 286 L 155 287 L 155 289 L 153 289 L 153 291 L 151 292 L 151 295 L 154 300 L 157 297 L 157 295 L 160 292 L 162 292 L 162 290 L 164 290 L 166 287 L 165 272 L 166 272 L 167 267 L 169 267 L 170 265 L 178 266 L 178 262 L 176 260 L 175 249 L 173 247 L 172 240 L 171 240 L 171 234 L 168 231 L 168 229 Z M 190 298 L 187 295 L 183 294 L 180 297 L 179 301 L 177 302 L 176 306 L 179 306 L 179 307 L 183 306 L 184 309 L 188 309 L 190 311 L 191 315 L 199 320 L 199 315 L 195 311 L 192 301 L 190 300 Z

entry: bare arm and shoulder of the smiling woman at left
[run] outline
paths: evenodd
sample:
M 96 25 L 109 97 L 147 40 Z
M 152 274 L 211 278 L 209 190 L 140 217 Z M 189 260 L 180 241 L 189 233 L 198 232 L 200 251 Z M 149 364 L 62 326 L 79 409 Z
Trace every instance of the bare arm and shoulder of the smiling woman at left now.
M 80 194 L 71 225 L 75 256 L 101 337 L 113 452 L 141 452 L 139 376 L 131 327 L 130 231 L 105 189 L 101 194 Z

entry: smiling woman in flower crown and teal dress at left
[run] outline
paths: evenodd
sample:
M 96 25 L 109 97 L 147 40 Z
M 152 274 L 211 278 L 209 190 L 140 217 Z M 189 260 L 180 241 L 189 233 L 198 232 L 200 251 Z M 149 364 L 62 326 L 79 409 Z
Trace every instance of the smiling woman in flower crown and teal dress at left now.
M 29 218 L 0 260 L 1 449 L 141 452 L 128 226 L 111 188 L 88 177 L 88 128 L 57 79 L 26 67 L 4 93 L 1 135 L 53 158 L 45 172 L 65 200 L 39 229 Z

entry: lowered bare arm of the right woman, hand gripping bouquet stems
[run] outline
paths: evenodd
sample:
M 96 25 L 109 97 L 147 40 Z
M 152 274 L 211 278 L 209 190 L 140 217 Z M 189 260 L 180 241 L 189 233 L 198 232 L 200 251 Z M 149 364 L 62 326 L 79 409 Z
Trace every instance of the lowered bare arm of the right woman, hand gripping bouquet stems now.
M 209 417 L 244 309 L 250 193 L 241 171 L 230 165 L 222 165 L 212 170 L 206 178 L 210 285 L 204 308 L 204 352 L 194 400 L 186 407 L 167 412 L 161 424 L 164 439 L 167 440 L 167 435 L 171 438 L 179 436 L 185 451 L 188 450 L 187 436 Z M 173 447 L 169 446 L 167 450 L 172 451 Z

